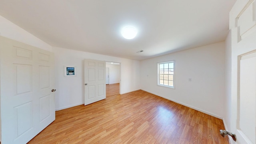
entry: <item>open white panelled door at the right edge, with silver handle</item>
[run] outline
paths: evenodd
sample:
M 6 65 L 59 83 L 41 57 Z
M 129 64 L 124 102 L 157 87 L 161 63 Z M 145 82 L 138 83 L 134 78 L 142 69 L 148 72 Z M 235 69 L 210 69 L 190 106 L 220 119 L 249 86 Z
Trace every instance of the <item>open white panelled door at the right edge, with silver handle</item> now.
M 237 0 L 230 12 L 232 28 L 233 144 L 256 144 L 256 3 Z

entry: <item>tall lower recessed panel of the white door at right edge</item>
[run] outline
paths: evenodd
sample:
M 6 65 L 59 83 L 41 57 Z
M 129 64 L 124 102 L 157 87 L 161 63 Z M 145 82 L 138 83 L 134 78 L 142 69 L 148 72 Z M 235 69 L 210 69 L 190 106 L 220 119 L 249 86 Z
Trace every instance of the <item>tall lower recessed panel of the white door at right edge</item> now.
M 256 144 L 256 51 L 238 58 L 237 138 L 240 144 Z

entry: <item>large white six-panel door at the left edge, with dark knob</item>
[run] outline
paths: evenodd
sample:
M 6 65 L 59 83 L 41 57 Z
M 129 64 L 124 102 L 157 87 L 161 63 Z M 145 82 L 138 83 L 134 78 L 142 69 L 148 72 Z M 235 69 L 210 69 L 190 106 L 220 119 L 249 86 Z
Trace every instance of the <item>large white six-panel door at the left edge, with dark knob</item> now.
M 1 144 L 26 144 L 55 120 L 54 54 L 0 37 Z

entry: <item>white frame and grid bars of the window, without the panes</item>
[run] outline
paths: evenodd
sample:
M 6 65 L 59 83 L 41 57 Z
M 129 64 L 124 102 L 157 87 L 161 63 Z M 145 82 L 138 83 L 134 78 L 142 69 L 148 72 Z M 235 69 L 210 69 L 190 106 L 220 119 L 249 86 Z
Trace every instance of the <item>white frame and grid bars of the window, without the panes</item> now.
M 169 65 L 169 63 L 173 63 L 173 74 L 170 74 L 169 73 L 169 70 L 170 69 L 172 69 L 172 68 L 169 68 L 168 67 L 168 74 L 160 74 L 160 64 L 168 64 Z M 168 61 L 168 62 L 158 62 L 157 63 L 157 74 L 158 74 L 158 76 L 157 76 L 157 80 L 158 80 L 158 82 L 157 82 L 157 85 L 158 86 L 164 86 L 164 87 L 166 87 L 166 88 L 172 88 L 172 89 L 174 89 L 174 86 L 175 86 L 175 60 L 171 60 L 171 61 Z M 166 68 L 164 68 L 164 69 L 166 69 Z M 163 79 L 161 79 L 160 78 L 160 75 L 168 75 L 168 85 L 166 85 L 166 84 L 160 84 L 160 80 L 164 80 L 164 76 L 163 76 Z M 172 80 L 170 80 L 169 79 L 169 76 L 172 76 Z M 173 82 L 173 86 L 170 86 L 169 85 L 169 81 L 172 81 Z

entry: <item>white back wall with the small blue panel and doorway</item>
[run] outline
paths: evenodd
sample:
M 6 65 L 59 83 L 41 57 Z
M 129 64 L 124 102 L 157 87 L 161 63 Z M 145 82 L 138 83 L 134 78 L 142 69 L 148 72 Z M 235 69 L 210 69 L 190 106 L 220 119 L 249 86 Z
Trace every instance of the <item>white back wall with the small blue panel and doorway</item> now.
M 121 63 L 120 94 L 140 89 L 140 62 L 53 47 L 55 54 L 56 110 L 84 104 L 84 59 Z M 76 66 L 76 77 L 64 77 L 64 66 Z

